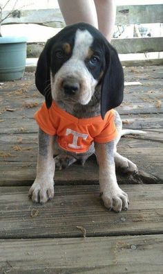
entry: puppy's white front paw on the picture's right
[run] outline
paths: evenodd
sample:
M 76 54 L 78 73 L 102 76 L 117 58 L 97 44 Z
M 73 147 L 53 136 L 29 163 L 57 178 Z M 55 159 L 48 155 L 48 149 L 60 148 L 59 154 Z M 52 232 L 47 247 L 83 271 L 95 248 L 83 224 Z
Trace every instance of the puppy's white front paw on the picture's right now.
M 128 209 L 128 195 L 119 187 L 110 192 L 103 192 L 102 200 L 108 209 L 113 209 L 115 212 L 121 212 L 122 209 Z

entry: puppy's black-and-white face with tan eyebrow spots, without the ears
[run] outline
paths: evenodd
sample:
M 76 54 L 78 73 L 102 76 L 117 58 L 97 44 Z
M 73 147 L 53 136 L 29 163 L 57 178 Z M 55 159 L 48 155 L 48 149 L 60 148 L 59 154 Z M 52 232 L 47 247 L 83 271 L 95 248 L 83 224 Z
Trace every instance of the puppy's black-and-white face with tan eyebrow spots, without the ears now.
M 88 30 L 74 33 L 52 46 L 50 82 L 52 99 L 86 105 L 102 78 L 105 58 L 100 40 Z

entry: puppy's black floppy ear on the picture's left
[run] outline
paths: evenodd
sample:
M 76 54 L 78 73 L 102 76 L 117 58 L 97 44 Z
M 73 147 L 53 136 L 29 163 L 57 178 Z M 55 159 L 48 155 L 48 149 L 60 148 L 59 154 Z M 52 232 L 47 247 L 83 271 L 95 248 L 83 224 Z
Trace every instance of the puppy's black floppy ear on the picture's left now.
M 50 40 L 46 43 L 39 60 L 35 72 L 35 85 L 39 92 L 46 98 L 46 107 L 52 105 L 52 94 L 50 86 Z

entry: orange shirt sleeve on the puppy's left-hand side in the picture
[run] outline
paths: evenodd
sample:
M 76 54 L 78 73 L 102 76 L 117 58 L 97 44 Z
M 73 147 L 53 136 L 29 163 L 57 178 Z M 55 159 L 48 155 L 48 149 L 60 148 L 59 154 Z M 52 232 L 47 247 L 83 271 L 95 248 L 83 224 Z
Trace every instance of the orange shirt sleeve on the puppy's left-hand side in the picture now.
M 56 129 L 52 123 L 50 116 L 52 109 L 46 108 L 46 103 L 43 103 L 41 108 L 35 113 L 35 120 L 37 121 L 39 128 L 48 135 L 56 135 Z

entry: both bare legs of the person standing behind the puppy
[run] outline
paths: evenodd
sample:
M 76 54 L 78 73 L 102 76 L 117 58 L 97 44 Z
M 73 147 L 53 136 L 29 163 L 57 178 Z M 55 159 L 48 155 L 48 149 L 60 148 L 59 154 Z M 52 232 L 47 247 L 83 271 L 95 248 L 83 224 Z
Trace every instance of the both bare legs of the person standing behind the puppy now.
M 58 3 L 67 25 L 86 22 L 111 42 L 116 16 L 114 0 L 58 0 Z

